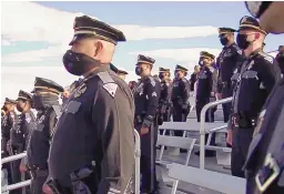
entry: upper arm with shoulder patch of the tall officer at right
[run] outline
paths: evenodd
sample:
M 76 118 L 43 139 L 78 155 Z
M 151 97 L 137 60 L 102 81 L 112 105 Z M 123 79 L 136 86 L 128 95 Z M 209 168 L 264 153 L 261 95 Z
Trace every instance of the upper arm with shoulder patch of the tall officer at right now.
M 262 82 L 265 90 L 271 93 L 275 83 L 281 79 L 281 70 L 277 61 L 272 57 L 264 58 L 262 64 Z

